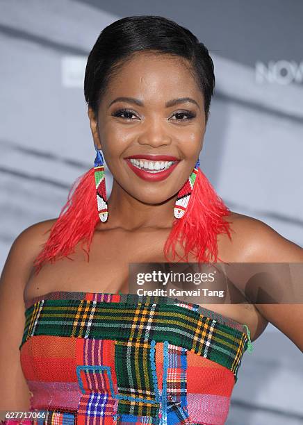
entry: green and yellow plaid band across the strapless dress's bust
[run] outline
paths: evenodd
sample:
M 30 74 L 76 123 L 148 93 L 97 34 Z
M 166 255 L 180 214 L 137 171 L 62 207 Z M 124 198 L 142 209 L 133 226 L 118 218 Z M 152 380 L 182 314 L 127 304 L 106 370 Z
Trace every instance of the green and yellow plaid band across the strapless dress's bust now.
M 172 303 L 116 303 L 42 299 L 26 309 L 22 345 L 35 335 L 116 341 L 155 340 L 183 347 L 237 371 L 247 349 L 245 332 Z

